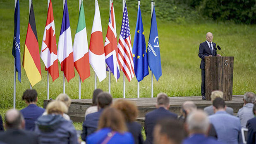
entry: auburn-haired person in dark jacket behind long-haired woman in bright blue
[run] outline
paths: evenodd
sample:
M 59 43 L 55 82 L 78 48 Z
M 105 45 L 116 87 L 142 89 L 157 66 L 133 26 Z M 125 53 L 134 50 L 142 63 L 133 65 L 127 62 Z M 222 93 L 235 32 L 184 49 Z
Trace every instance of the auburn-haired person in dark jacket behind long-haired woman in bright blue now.
M 125 99 L 118 99 L 113 107 L 120 110 L 124 116 L 124 120 L 129 132 L 132 133 L 135 144 L 143 144 L 141 135 L 141 125 L 135 122 L 138 116 L 138 109 L 134 102 Z

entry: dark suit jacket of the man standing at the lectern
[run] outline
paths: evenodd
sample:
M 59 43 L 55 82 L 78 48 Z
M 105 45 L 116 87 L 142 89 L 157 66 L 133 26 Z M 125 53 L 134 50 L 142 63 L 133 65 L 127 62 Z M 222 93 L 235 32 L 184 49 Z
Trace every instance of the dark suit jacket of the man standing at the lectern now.
M 216 44 L 214 42 L 213 43 L 213 56 L 217 56 L 217 51 L 216 51 Z M 210 47 L 208 46 L 207 42 L 202 42 L 200 43 L 199 46 L 199 52 L 198 52 L 198 56 L 202 59 L 201 60 L 201 64 L 200 64 L 200 68 L 204 69 L 204 57 L 212 55 Z

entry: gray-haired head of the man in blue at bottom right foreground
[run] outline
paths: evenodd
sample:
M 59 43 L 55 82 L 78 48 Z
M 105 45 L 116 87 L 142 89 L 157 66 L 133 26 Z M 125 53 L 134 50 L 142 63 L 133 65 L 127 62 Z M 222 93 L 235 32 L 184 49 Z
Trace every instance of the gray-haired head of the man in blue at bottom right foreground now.
M 210 121 L 208 115 L 202 110 L 192 111 L 187 117 L 187 125 L 189 132 L 206 134 Z

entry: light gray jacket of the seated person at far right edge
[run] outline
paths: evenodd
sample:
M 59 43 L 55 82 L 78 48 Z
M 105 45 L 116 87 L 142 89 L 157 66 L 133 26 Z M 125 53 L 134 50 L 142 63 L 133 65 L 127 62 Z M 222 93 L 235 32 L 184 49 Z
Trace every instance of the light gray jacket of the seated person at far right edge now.
M 254 104 L 249 103 L 245 104 L 241 109 L 239 109 L 237 113 L 237 117 L 240 119 L 240 123 L 242 127 L 246 127 L 246 123 L 249 119 L 254 118 L 254 113 L 252 113 L 252 109 Z

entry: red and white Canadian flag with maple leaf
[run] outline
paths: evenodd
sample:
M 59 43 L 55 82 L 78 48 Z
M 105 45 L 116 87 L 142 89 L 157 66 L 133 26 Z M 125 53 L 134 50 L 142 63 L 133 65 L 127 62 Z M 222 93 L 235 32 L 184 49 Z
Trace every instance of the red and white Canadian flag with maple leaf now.
M 59 77 L 59 68 L 57 60 L 58 57 L 53 18 L 53 6 L 51 0 L 48 7 L 48 14 L 43 33 L 43 42 L 40 57 L 45 64 L 45 71 L 49 71 L 53 81 L 56 80 Z

